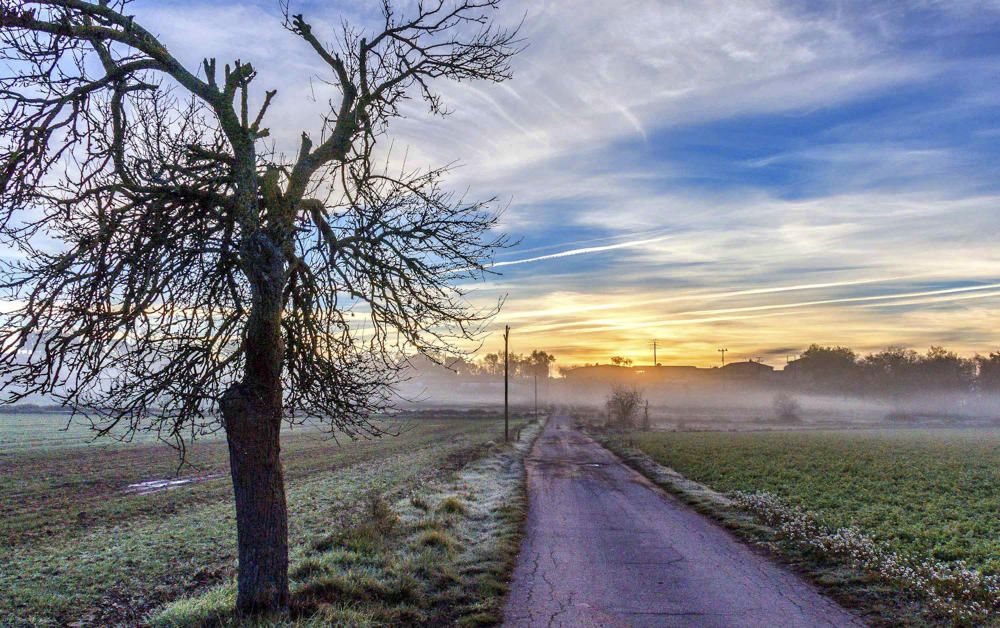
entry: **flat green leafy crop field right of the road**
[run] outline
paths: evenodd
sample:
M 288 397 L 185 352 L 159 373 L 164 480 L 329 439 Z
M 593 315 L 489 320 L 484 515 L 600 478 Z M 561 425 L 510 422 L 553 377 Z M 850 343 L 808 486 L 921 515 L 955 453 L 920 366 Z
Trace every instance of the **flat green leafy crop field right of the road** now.
M 1000 573 L 1000 430 L 654 432 L 635 444 L 720 492 L 768 491 L 895 551 Z

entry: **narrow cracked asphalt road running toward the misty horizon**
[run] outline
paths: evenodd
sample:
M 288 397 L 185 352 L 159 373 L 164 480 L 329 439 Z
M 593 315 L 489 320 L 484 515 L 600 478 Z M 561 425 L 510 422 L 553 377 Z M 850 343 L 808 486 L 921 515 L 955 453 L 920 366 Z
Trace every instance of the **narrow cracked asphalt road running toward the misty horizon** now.
M 525 467 L 507 626 L 862 626 L 553 416 Z

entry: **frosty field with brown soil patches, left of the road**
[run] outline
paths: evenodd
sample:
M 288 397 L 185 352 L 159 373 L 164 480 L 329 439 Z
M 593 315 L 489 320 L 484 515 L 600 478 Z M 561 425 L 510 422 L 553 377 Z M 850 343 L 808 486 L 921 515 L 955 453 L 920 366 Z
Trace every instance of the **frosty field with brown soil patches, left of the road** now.
M 7 427 L 0 427 L 0 624 L 135 623 L 232 580 L 235 524 L 223 442 L 201 443 L 181 471 L 212 479 L 140 495 L 125 489 L 172 477 L 174 451 L 81 446 L 75 434 L 64 446 L 40 446 L 39 431 L 24 421 L 0 426 Z M 343 446 L 315 433 L 286 435 L 293 563 L 365 525 L 372 504 L 453 473 L 500 437 L 502 420 L 486 418 L 414 420 L 402 436 Z

